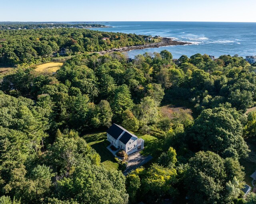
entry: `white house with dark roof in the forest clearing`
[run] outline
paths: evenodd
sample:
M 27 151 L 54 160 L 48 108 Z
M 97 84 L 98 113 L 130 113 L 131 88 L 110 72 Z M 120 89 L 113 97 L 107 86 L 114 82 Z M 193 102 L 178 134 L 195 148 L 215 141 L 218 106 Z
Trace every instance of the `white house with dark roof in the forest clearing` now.
M 144 140 L 130 133 L 117 124 L 112 124 L 107 131 L 108 141 L 117 149 L 123 149 L 128 155 L 144 148 Z

